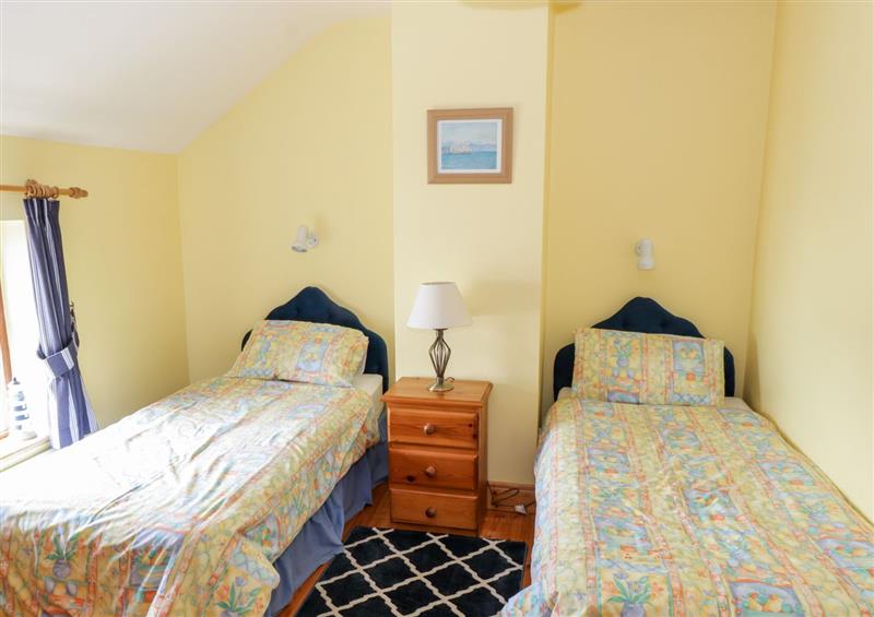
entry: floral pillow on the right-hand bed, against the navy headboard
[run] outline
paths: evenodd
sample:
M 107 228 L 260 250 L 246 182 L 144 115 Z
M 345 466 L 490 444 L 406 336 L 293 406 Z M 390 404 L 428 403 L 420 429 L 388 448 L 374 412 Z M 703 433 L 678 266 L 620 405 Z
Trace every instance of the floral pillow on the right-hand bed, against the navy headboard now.
M 722 341 L 581 328 L 574 391 L 583 399 L 651 405 L 720 405 Z

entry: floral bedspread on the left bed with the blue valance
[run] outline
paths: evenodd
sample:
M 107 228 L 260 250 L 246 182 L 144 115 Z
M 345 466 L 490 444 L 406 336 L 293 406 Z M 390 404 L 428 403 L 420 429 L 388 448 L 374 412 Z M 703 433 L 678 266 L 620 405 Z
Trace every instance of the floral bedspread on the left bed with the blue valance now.
M 353 388 L 222 377 L 0 473 L 0 615 L 261 615 L 379 440 Z

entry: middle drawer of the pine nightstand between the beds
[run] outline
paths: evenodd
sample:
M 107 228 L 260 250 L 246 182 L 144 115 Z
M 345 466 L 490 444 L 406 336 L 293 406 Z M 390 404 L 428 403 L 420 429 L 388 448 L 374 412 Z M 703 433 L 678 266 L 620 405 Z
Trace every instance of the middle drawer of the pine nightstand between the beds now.
M 474 453 L 392 446 L 389 479 L 410 487 L 476 489 Z

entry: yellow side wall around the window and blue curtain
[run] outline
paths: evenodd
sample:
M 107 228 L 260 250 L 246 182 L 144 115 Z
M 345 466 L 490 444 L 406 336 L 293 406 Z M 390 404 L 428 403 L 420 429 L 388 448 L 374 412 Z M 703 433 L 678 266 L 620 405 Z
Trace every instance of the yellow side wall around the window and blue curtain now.
M 90 191 L 61 199 L 85 388 L 102 427 L 188 382 L 175 157 L 0 137 L 0 183 Z M 0 217 L 24 217 L 0 193 Z

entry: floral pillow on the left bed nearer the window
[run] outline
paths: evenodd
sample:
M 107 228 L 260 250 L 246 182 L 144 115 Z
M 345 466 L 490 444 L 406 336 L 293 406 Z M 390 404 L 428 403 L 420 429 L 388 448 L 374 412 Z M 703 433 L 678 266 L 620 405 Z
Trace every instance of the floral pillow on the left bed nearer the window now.
M 367 355 L 358 330 L 307 321 L 261 321 L 229 377 L 352 387 Z

